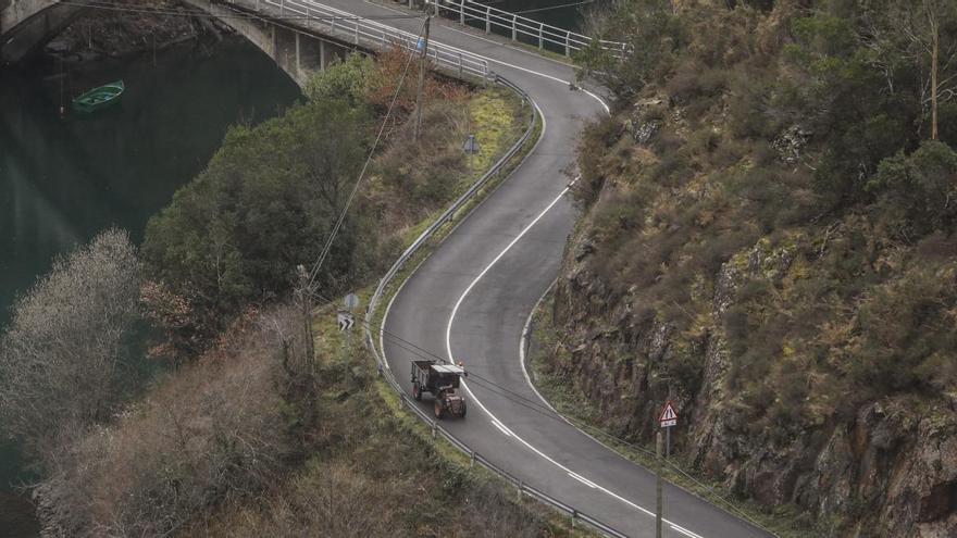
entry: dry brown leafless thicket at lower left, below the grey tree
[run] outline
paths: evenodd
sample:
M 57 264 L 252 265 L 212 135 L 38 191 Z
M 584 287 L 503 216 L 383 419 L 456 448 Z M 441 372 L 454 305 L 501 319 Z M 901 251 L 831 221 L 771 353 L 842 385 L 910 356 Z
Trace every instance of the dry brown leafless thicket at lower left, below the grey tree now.
M 302 362 L 297 318 L 289 308 L 248 313 L 200 361 L 63 454 L 40 487 L 61 527 L 165 536 L 268 488 L 296 448 L 287 418 L 289 372 Z

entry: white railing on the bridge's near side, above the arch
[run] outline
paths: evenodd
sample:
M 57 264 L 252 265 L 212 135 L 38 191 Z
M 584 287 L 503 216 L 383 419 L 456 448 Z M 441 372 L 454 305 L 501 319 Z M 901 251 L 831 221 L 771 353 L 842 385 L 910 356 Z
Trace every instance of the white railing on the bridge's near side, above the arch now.
M 414 34 L 357 17 L 312 0 L 257 0 L 257 11 L 260 1 L 273 9 L 277 8 L 281 17 L 301 16 L 296 22 L 298 26 L 306 26 L 356 46 L 378 50 L 389 47 L 417 50 L 419 47 L 419 36 Z M 465 50 L 432 41 L 428 43 L 427 54 L 436 68 L 450 71 L 459 76 L 477 77 L 483 83 L 492 78 L 488 62 Z

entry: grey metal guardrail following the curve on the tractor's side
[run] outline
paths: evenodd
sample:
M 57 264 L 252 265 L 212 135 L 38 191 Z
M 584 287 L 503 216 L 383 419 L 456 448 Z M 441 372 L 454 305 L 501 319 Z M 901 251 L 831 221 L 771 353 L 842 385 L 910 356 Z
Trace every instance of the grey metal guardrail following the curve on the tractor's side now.
M 474 450 L 472 450 L 468 445 L 465 445 L 463 441 L 458 439 L 456 436 L 453 436 L 447 429 L 442 427 L 438 424 L 438 421 L 436 421 L 434 417 L 430 416 L 428 413 L 423 411 L 417 404 L 417 402 L 412 398 L 410 398 L 409 395 L 407 395 L 405 390 L 402 390 L 402 387 L 399 385 L 399 381 L 396 379 L 395 374 L 393 373 L 391 368 L 388 365 L 388 362 L 385 360 L 384 351 L 381 352 L 378 350 L 378 348 L 376 347 L 375 338 L 373 337 L 372 330 L 370 328 L 370 327 L 372 327 L 373 317 L 374 317 L 375 311 L 378 306 L 378 301 L 382 299 L 383 292 L 385 291 L 385 289 L 389 285 L 389 283 L 393 280 L 393 278 L 395 278 L 395 276 L 399 273 L 399 271 L 402 270 L 402 267 L 406 265 L 406 263 L 408 263 L 409 260 L 411 260 L 415 255 L 415 253 L 419 251 L 419 249 L 422 248 L 422 246 L 424 246 L 430 239 L 432 239 L 435 236 L 435 234 L 439 230 L 439 228 L 442 228 L 443 226 L 448 224 L 455 217 L 456 213 L 458 213 L 463 207 L 465 207 L 469 202 L 471 202 L 473 199 L 475 199 L 478 191 L 485 185 L 487 185 L 494 177 L 498 176 L 499 174 L 501 174 L 505 171 L 509 161 L 521 151 L 522 147 L 531 139 L 532 135 L 535 132 L 535 128 L 537 127 L 538 116 L 535 113 L 535 108 L 533 105 L 531 105 L 532 99 L 529 97 L 529 95 L 525 93 L 524 90 L 522 90 L 521 88 L 519 88 L 518 86 L 515 86 L 514 84 L 509 82 L 508 79 L 502 78 L 500 76 L 493 75 L 493 80 L 495 84 L 504 86 L 504 87 L 510 89 L 511 91 L 518 93 L 522 98 L 523 102 L 526 102 L 530 104 L 529 109 L 531 110 L 531 121 L 530 121 L 529 127 L 525 129 L 525 133 L 522 135 L 521 139 L 519 139 L 519 141 L 515 142 L 509 149 L 509 151 L 501 159 L 499 159 L 498 162 L 495 163 L 495 165 L 492 166 L 492 168 L 489 168 L 481 178 L 478 178 L 469 188 L 469 190 L 465 193 L 463 193 L 455 202 L 452 202 L 452 204 L 449 205 L 448 209 L 446 209 L 445 212 L 443 212 L 443 214 L 439 215 L 438 218 L 436 218 L 435 222 L 433 222 L 425 229 L 425 232 L 423 232 L 412 242 L 412 245 L 406 249 L 405 252 L 402 252 L 402 254 L 398 258 L 398 260 L 396 260 L 396 262 L 391 265 L 391 267 L 389 267 L 388 272 L 386 272 L 385 276 L 383 276 L 382 279 L 378 281 L 378 286 L 376 286 L 375 291 L 372 293 L 372 297 L 369 300 L 369 305 L 365 310 L 365 323 L 364 323 L 365 346 L 372 352 L 372 354 L 375 356 L 375 360 L 378 363 L 378 370 L 382 373 L 382 376 L 389 384 L 389 386 L 391 386 L 391 388 L 398 393 L 399 402 L 400 402 L 401 406 L 408 409 L 409 411 L 413 412 L 417 416 L 419 416 L 419 418 L 421 418 L 422 422 L 424 422 L 432 429 L 433 437 L 440 435 L 447 441 L 449 441 L 453 447 L 456 447 L 462 453 L 468 455 L 469 461 L 471 462 L 472 465 L 474 465 L 475 463 L 478 463 L 480 465 L 484 466 L 485 468 L 492 471 L 493 473 L 495 473 L 498 476 L 500 476 L 501 478 L 504 478 L 506 481 L 508 481 L 509 484 L 511 484 L 512 486 L 514 486 L 517 488 L 519 497 L 521 497 L 522 495 L 526 495 L 526 496 L 532 497 L 540 502 L 544 502 L 545 504 L 548 504 L 548 505 L 561 511 L 561 512 L 564 512 L 566 514 L 571 516 L 572 525 L 575 525 L 576 523 L 584 523 L 584 524 L 589 525 L 593 528 L 597 529 L 598 531 L 604 533 L 607 536 L 611 536 L 613 538 L 627 538 L 627 535 L 617 530 L 616 528 L 611 527 L 610 525 L 602 523 L 601 521 L 599 521 L 595 517 L 592 517 L 591 515 L 588 515 L 586 513 L 581 512 L 580 510 L 575 509 L 574 506 L 566 504 L 566 503 L 559 501 L 558 499 L 549 496 L 548 493 L 525 484 L 524 481 L 522 481 L 521 479 L 519 479 L 518 477 L 515 477 L 511 473 L 505 471 L 504 468 L 499 467 L 498 465 L 496 465 L 495 463 L 493 463 L 490 460 L 486 459 L 485 456 L 483 456 L 478 452 L 475 452 Z M 380 337 L 381 337 L 382 336 L 382 328 L 381 327 L 380 327 L 378 333 L 380 333 Z

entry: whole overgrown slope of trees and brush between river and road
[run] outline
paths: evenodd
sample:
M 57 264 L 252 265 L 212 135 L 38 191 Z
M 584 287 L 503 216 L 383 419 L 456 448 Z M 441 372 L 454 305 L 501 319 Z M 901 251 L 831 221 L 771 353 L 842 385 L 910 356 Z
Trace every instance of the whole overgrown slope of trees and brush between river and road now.
M 468 133 L 484 167 L 525 127 L 510 93 L 428 74 L 413 142 L 406 58 L 330 66 L 306 101 L 232 128 L 141 249 L 105 232 L 17 302 L 0 417 L 40 476 L 44 536 L 582 535 L 443 454 L 322 304 L 372 280 L 482 173 Z M 347 207 L 319 292 L 303 292 L 297 267 Z M 146 321 L 149 356 L 134 345 Z

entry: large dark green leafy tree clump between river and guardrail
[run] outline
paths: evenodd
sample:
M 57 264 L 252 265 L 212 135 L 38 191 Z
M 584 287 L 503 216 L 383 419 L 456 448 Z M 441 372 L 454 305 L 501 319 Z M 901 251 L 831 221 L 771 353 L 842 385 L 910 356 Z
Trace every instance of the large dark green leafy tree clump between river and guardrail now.
M 190 313 L 174 331 L 191 343 L 178 349 L 202 349 L 248 304 L 291 289 L 294 268 L 316 259 L 358 177 L 370 122 L 365 108 L 325 98 L 234 127 L 207 170 L 150 220 L 142 251 L 164 290 L 152 297 L 185 301 Z M 370 226 L 348 218 L 319 283 L 368 271 L 358 248 L 366 242 Z

